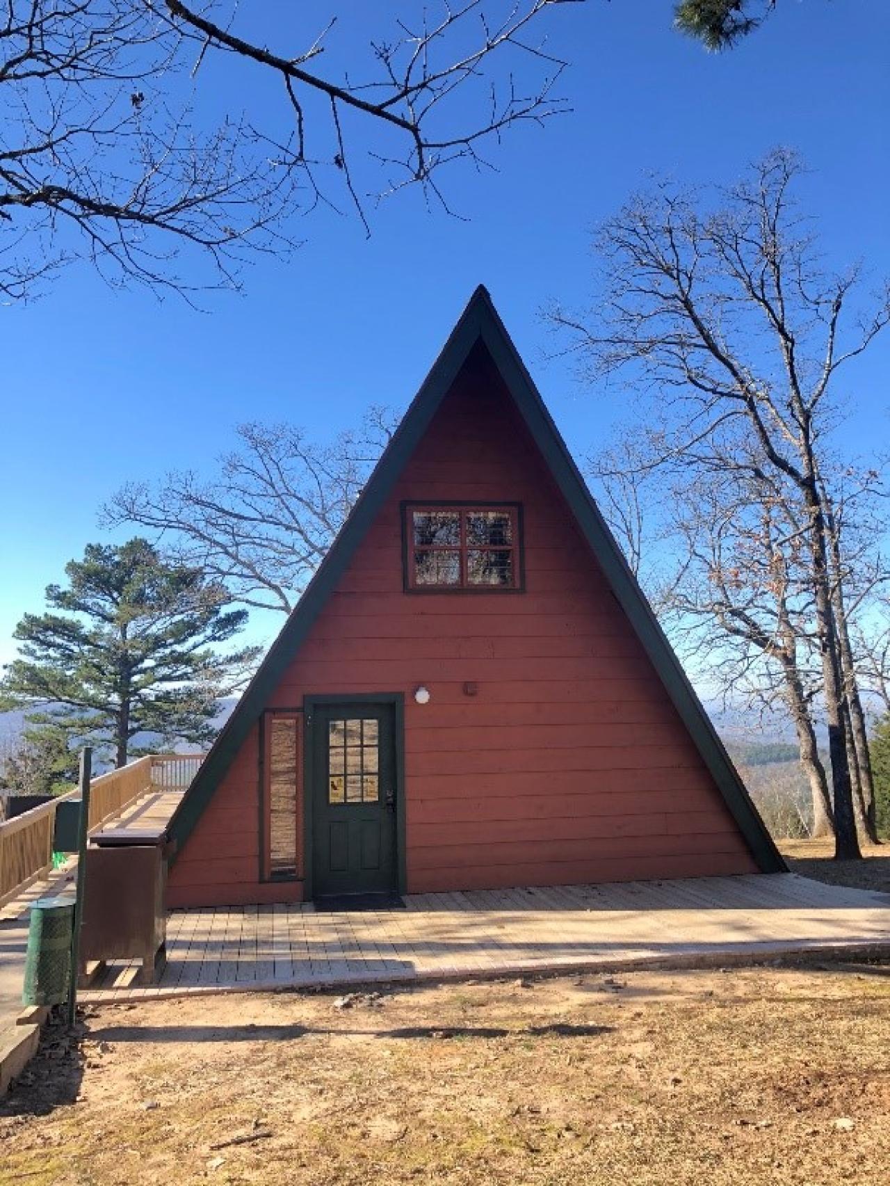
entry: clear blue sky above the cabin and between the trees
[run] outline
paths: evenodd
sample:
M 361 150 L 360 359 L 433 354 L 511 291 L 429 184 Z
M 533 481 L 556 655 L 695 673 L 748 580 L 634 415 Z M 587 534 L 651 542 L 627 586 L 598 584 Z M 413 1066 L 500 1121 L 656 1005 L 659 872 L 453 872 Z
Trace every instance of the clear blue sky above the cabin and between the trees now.
M 346 52 L 385 6 L 361 7 L 341 21 Z M 571 62 L 559 89 L 574 111 L 510 133 L 489 152 L 497 172 L 442 178 L 469 221 L 430 213 L 412 192 L 373 212 L 370 240 L 354 218 L 307 217 L 296 229 L 306 246 L 287 263 L 251 267 L 242 295 L 207 294 L 204 312 L 113 292 L 87 266 L 39 301 L 0 307 L 0 662 L 65 561 L 102 538 L 97 508 L 124 480 L 211 468 L 245 419 L 327 436 L 370 403 L 404 407 L 479 282 L 570 446 L 595 447 L 621 396 L 548 362 L 540 311 L 585 302 L 590 229 L 649 171 L 730 183 L 770 147 L 796 147 L 832 260 L 890 272 L 885 0 L 783 0 L 722 56 L 673 32 L 670 0 L 568 5 L 551 31 Z M 257 102 L 275 102 L 262 85 Z M 886 440 L 889 358 L 885 342 L 851 372 L 853 448 Z M 268 639 L 278 624 L 256 621 L 251 633 Z

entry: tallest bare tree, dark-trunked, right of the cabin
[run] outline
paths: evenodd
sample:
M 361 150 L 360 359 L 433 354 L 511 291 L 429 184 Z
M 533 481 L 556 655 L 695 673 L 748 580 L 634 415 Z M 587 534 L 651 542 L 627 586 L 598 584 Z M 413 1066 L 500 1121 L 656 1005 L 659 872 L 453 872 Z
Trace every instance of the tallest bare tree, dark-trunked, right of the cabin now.
M 826 471 L 837 376 L 886 326 L 890 292 L 857 313 L 859 272 L 825 272 L 792 200 L 800 172 L 793 153 L 777 151 L 716 209 L 671 185 L 632 199 L 600 236 L 596 305 L 587 315 L 557 308 L 552 320 L 570 334 L 590 378 L 629 370 L 638 390 L 653 394 L 645 410 L 659 428 L 649 435 L 675 474 L 745 474 L 794 508 L 813 604 L 837 855 L 857 856 Z

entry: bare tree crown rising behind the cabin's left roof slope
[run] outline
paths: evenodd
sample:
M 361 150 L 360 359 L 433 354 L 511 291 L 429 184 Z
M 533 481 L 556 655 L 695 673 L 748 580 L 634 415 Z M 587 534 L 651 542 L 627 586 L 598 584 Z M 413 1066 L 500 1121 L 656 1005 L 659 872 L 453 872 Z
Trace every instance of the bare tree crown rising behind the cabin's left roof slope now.
M 393 427 L 391 413 L 371 408 L 358 432 L 320 445 L 292 425 L 242 425 L 216 477 L 179 471 L 156 485 L 129 483 L 102 523 L 137 524 L 223 581 L 235 601 L 289 613 Z

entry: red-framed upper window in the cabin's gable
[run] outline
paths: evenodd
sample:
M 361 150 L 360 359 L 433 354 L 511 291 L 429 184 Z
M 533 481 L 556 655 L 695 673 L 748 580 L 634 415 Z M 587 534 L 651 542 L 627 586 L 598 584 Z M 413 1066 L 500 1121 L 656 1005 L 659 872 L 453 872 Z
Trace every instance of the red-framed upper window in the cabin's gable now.
M 406 589 L 482 593 L 520 588 L 517 504 L 408 503 L 404 516 Z

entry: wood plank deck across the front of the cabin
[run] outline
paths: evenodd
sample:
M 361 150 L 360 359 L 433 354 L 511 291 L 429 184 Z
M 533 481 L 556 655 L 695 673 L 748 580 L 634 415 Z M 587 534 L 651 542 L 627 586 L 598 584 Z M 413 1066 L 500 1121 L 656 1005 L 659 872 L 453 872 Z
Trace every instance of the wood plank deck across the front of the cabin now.
M 155 986 L 111 964 L 84 1002 L 802 955 L 890 957 L 890 895 L 795 874 L 415 894 L 404 910 L 173 911 Z

